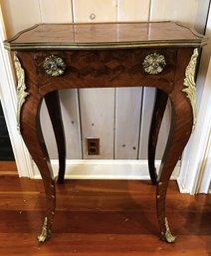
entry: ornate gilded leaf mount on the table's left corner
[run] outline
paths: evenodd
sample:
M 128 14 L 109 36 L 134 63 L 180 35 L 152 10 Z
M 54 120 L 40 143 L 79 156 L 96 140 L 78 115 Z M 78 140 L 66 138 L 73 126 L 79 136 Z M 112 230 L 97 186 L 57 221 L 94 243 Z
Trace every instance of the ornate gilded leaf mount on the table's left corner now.
M 21 63 L 16 54 L 14 54 L 14 64 L 16 75 L 18 79 L 18 86 L 16 89 L 17 92 L 17 128 L 20 132 L 20 118 L 21 118 L 21 108 L 26 101 L 27 96 L 29 93 L 25 92 L 26 84 L 25 84 L 25 72 L 24 69 L 21 67 Z

